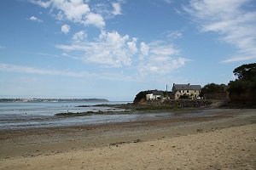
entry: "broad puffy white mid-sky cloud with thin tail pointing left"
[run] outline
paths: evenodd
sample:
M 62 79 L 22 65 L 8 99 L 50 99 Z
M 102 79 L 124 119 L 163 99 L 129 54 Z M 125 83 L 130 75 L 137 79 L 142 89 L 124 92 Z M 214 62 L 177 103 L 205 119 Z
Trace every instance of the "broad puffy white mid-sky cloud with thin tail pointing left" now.
M 131 65 L 132 56 L 137 52 L 136 41 L 136 38 L 121 36 L 117 31 L 102 31 L 93 42 L 56 45 L 56 48 L 83 53 L 80 59 L 85 63 L 120 67 Z

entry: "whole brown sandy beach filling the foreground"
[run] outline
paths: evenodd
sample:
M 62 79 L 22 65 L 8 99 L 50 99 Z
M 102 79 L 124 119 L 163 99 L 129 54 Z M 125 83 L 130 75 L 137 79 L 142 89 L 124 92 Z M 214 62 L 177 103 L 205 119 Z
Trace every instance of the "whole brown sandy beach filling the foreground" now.
M 0 131 L 0 169 L 256 169 L 256 110 Z

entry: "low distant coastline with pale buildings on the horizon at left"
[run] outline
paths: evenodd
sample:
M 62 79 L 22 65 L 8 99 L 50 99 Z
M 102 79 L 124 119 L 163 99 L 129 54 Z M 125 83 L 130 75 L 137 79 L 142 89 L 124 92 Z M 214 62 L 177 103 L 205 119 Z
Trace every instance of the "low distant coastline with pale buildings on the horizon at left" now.
M 1 102 L 109 102 L 108 99 L 0 99 Z

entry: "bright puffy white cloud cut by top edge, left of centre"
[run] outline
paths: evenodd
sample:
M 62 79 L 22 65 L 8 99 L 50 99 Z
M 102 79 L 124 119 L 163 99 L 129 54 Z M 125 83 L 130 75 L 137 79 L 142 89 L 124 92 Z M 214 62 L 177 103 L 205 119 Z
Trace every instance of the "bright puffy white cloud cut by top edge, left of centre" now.
M 99 28 L 105 26 L 102 15 L 93 13 L 84 0 L 32 0 L 32 3 L 44 8 L 51 8 L 51 13 L 54 13 L 55 9 L 57 12 L 53 15 L 56 20 L 69 20 L 85 26 L 92 25 Z

